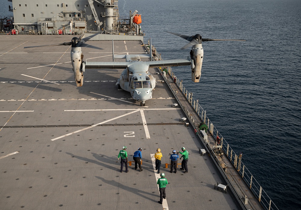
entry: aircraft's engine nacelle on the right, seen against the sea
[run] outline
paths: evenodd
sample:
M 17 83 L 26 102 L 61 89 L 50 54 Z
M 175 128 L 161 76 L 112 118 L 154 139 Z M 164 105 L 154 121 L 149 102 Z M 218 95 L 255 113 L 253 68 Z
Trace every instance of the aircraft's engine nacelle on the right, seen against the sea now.
M 193 45 L 190 51 L 191 58 L 191 80 L 199 82 L 203 63 L 204 50 L 202 44 Z

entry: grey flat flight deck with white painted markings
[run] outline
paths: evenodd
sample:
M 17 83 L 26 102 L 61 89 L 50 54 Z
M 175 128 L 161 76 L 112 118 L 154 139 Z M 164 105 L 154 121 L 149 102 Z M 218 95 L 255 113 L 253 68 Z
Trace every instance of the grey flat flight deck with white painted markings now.
M 71 38 L 0 36 L 0 157 L 18 151 L 0 159 L 0 208 L 239 209 L 230 193 L 214 190 L 221 178 L 208 156 L 199 155 L 193 129 L 179 123 L 184 114 L 171 108 L 176 101 L 166 84 L 158 82 L 153 99 L 141 107 L 115 86 L 122 69 L 86 69 L 84 85 L 76 87 L 69 46 L 23 49 Z M 110 41 L 88 43 L 105 50 L 82 48 L 84 59 L 112 61 Z M 138 41 L 114 41 L 114 47 L 116 54 L 144 52 Z M 162 80 L 155 71 L 150 69 Z M 122 146 L 129 161 L 143 148 L 142 172 L 132 165 L 120 173 Z M 171 174 L 163 168 L 168 154 L 183 146 L 190 153 L 189 172 Z M 151 159 L 157 148 L 163 154 L 160 172 L 169 182 L 163 205 Z

